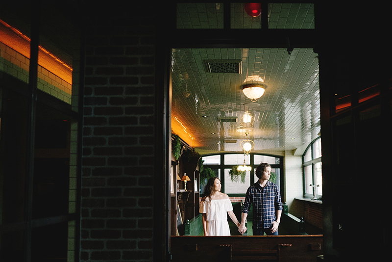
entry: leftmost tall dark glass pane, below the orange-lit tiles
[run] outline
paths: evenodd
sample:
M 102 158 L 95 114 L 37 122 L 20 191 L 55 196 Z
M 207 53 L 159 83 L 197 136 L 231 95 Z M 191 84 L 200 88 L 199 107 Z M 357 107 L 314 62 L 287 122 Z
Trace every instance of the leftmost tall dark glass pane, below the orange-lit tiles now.
M 0 103 L 0 224 L 4 225 L 25 217 L 28 101 L 0 87 Z

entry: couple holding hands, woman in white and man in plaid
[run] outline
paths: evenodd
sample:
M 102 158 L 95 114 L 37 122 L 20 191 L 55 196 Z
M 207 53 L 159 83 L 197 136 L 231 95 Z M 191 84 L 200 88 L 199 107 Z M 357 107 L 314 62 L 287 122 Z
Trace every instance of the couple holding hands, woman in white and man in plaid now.
M 253 235 L 278 235 L 283 205 L 278 186 L 269 181 L 270 164 L 261 163 L 256 169 L 256 176 L 259 180 L 246 191 L 241 223 L 233 212 L 228 195 L 221 193 L 220 179 L 214 177 L 208 180 L 199 209 L 203 216 L 204 236 L 230 236 L 226 212 L 243 235 L 247 230 L 245 221 L 250 204 L 253 205 Z

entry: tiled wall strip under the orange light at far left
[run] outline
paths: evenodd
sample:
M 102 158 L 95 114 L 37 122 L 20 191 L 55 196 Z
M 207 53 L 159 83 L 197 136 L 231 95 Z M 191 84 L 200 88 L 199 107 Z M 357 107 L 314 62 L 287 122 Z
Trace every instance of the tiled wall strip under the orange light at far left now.
M 0 71 L 25 83 L 28 82 L 29 59 L 0 42 Z M 38 66 L 37 87 L 68 104 L 71 104 L 72 84 Z

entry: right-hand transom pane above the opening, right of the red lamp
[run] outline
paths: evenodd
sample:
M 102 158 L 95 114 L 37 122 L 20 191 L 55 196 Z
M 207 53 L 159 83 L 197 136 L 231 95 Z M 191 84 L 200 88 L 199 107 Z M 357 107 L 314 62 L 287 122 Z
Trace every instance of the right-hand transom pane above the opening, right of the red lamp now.
M 314 29 L 313 3 L 269 3 L 269 29 Z

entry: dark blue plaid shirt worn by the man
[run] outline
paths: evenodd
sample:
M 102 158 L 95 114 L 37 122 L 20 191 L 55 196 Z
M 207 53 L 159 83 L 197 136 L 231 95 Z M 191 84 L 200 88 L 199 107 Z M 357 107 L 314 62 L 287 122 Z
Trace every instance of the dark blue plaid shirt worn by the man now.
M 276 220 L 276 210 L 283 210 L 280 191 L 276 184 L 267 181 L 261 187 L 259 182 L 249 186 L 246 191 L 243 213 L 248 213 L 250 204 L 253 205 L 253 227 L 270 228 Z

